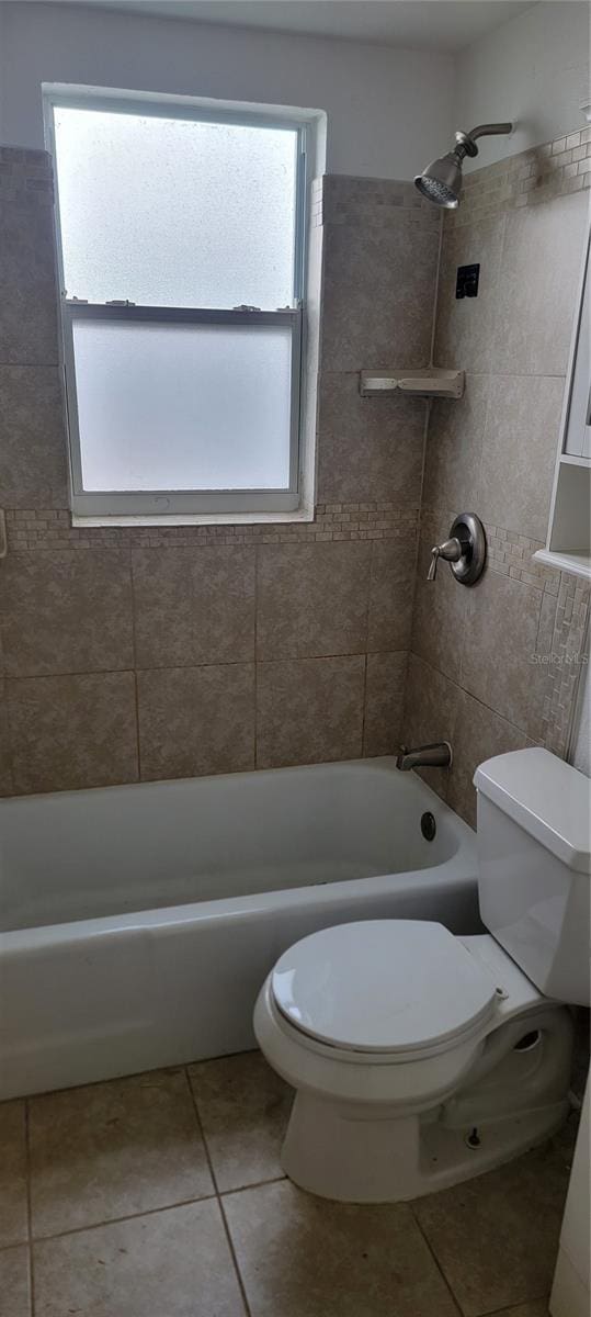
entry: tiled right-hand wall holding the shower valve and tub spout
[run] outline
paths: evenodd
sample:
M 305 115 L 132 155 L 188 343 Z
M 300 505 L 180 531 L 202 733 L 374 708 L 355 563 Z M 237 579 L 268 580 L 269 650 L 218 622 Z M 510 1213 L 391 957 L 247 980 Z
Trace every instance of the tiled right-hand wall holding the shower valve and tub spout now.
M 404 739 L 445 738 L 451 772 L 425 773 L 475 820 L 479 761 L 528 744 L 567 751 L 590 587 L 542 569 L 559 416 L 591 179 L 591 130 L 466 178 L 444 221 L 434 362 L 467 371 L 462 402 L 433 403 Z M 458 265 L 480 263 L 476 299 L 455 299 Z M 474 587 L 429 549 L 457 512 L 487 528 Z

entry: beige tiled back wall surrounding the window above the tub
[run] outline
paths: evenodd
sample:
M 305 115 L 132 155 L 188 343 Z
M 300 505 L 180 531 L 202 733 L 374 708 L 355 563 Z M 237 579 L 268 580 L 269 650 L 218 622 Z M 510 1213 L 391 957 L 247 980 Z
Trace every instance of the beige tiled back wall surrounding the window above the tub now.
M 411 184 L 326 178 L 308 524 L 72 528 L 51 176 L 0 151 L 0 788 L 96 786 L 398 745 L 425 404 L 358 370 L 429 361 L 441 220 Z

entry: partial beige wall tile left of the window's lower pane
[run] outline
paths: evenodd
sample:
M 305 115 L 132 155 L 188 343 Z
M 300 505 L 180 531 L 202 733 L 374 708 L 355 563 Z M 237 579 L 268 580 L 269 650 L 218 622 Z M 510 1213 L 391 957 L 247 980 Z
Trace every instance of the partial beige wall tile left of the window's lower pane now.
M 5 508 L 67 507 L 57 366 L 0 366 L 0 490 Z

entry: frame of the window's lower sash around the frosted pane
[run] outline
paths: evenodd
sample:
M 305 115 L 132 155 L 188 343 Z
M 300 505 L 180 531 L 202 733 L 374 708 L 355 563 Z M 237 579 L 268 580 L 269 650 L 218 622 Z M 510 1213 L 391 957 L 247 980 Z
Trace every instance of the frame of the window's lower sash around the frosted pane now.
M 76 320 L 143 324 L 287 325 L 291 329 L 290 485 L 280 490 L 84 490 L 76 403 L 74 325 Z M 62 300 L 63 371 L 70 436 L 71 507 L 76 516 L 174 516 L 215 512 L 290 512 L 299 507 L 299 429 L 301 308 L 229 311 L 200 307 L 134 307 Z

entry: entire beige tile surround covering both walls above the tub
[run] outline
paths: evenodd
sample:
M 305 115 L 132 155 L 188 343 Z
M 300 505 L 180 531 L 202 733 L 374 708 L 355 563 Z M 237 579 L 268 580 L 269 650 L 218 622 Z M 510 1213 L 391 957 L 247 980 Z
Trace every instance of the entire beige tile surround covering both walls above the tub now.
M 440 215 L 405 183 L 315 184 L 317 502 L 291 525 L 71 527 L 50 165 L 0 151 L 0 790 L 384 753 L 405 707 L 408 743 L 451 739 L 451 773 L 428 776 L 474 822 L 479 760 L 532 741 L 566 752 L 588 587 L 532 553 L 588 137 L 469 175 L 446 216 L 434 361 L 466 369 L 467 389 L 433 404 L 425 469 L 425 404 L 362 399 L 358 371 L 429 362 Z M 457 302 L 473 261 L 479 296 Z M 465 590 L 444 566 L 428 586 L 429 548 L 462 510 L 487 525 L 486 576 Z

